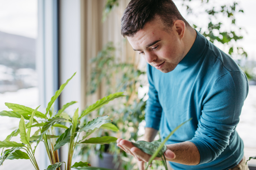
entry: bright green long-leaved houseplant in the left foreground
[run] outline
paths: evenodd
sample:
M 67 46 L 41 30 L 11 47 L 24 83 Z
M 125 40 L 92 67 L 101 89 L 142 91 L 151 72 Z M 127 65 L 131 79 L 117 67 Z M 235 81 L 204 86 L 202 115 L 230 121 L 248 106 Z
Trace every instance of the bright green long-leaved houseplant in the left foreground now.
M 76 73 L 75 73 L 76 74 Z M 73 76 L 75 75 L 73 74 Z M 72 79 L 73 76 L 70 78 Z M 70 102 L 64 105 L 58 112 L 53 111 L 52 105 L 55 100 L 63 91 L 64 87 L 70 81 L 67 80 L 58 91 L 55 92 L 55 95 L 52 96 L 50 102 L 47 105 L 46 112 L 41 113 L 38 111 L 38 108 L 32 109 L 23 105 L 18 105 L 14 103 L 5 103 L 6 106 L 12 111 L 1 111 L 0 116 L 9 116 L 20 119 L 19 128 L 14 130 L 9 136 L 6 137 L 4 141 L 0 141 L 0 148 L 3 149 L 0 156 L 0 165 L 6 159 L 30 159 L 33 166 L 36 170 L 39 170 L 37 161 L 35 159 L 35 150 L 39 142 L 44 142 L 45 148 L 47 150 L 47 155 L 51 165 L 48 166 L 47 170 L 61 170 L 61 164 L 65 164 L 65 170 L 70 170 L 71 168 L 81 169 L 83 167 L 90 167 L 88 162 L 76 162 L 72 164 L 73 153 L 76 145 L 78 144 L 110 144 L 116 142 L 116 138 L 112 136 L 103 136 L 86 139 L 90 134 L 92 134 L 98 128 L 113 129 L 117 127 L 111 124 L 111 120 L 108 119 L 108 116 L 99 116 L 96 119 L 93 119 L 89 122 L 81 123 L 80 120 L 84 116 L 90 114 L 92 111 L 95 111 L 98 108 L 101 108 L 103 105 L 107 104 L 111 100 L 122 97 L 123 93 L 110 94 L 100 100 L 98 100 L 93 105 L 87 107 L 80 115 L 79 109 L 76 109 L 72 118 L 64 118 L 62 116 L 63 111 L 73 105 L 76 102 Z M 25 120 L 27 122 L 25 122 Z M 68 126 L 61 125 L 60 122 L 67 122 Z M 31 135 L 31 128 L 38 128 L 35 134 Z M 64 128 L 65 131 L 60 136 L 55 135 L 55 128 Z M 81 132 L 86 132 L 86 134 L 79 140 L 79 135 Z M 19 143 L 10 141 L 13 136 L 20 134 Z M 32 144 L 35 143 L 35 147 L 32 148 Z M 69 144 L 68 150 L 68 160 L 67 162 L 60 162 L 58 157 L 58 149 L 64 144 Z M 10 148 L 10 149 L 9 149 Z M 102 170 L 104 168 L 101 168 Z

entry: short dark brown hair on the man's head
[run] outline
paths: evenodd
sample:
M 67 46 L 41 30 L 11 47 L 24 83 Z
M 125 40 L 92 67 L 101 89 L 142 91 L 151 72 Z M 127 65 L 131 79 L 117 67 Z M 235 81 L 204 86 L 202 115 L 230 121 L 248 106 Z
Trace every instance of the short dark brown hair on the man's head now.
M 121 18 L 122 36 L 132 37 L 156 16 L 170 28 L 175 20 L 182 20 L 189 26 L 172 0 L 131 0 Z

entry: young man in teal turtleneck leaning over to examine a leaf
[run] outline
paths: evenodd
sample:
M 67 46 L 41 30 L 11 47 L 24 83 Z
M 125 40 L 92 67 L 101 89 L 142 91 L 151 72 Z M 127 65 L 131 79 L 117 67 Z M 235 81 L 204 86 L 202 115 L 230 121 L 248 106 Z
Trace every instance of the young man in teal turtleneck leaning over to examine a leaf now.
M 239 66 L 189 26 L 172 0 L 131 0 L 121 21 L 122 35 L 148 62 L 144 140 L 159 129 L 164 139 L 192 117 L 166 143 L 173 169 L 247 170 L 236 132 L 248 93 Z M 117 146 L 144 170 L 150 155 L 123 139 Z

